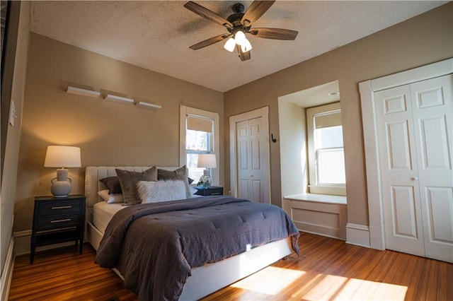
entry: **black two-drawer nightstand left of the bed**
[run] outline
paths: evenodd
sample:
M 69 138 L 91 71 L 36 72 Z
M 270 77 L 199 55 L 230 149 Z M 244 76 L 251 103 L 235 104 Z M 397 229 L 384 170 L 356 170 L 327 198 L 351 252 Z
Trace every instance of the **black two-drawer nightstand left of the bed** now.
M 59 242 L 79 243 L 80 254 L 84 247 L 85 196 L 62 198 L 35 196 L 33 228 L 31 232 L 30 264 L 33 264 L 36 247 Z

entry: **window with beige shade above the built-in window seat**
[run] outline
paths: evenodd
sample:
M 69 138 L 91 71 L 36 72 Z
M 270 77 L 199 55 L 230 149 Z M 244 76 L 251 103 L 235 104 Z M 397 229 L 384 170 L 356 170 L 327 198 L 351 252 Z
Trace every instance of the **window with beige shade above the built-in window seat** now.
M 306 109 L 309 192 L 346 195 L 340 102 Z

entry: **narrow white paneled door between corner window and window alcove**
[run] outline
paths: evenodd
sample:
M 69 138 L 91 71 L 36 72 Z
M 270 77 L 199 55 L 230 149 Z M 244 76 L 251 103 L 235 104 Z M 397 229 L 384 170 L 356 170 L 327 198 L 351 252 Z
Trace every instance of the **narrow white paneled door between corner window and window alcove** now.
M 262 117 L 236 123 L 238 197 L 269 203 L 263 186 L 262 142 Z

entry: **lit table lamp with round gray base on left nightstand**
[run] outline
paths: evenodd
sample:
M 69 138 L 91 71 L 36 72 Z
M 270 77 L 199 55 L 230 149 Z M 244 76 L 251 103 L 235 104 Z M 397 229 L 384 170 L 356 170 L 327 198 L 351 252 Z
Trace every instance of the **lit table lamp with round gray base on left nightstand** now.
M 57 177 L 50 180 L 50 191 L 57 198 L 68 196 L 71 192 L 72 179 L 64 167 L 81 167 L 80 148 L 75 146 L 47 146 L 44 167 L 60 167 Z

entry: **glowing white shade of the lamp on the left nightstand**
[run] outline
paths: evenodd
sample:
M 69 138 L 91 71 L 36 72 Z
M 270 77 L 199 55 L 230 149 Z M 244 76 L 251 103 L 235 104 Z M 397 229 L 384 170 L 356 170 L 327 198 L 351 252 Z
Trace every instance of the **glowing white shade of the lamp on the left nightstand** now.
M 80 148 L 75 146 L 47 146 L 44 167 L 81 167 Z

